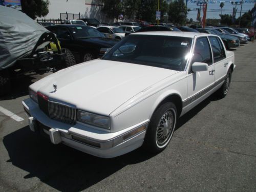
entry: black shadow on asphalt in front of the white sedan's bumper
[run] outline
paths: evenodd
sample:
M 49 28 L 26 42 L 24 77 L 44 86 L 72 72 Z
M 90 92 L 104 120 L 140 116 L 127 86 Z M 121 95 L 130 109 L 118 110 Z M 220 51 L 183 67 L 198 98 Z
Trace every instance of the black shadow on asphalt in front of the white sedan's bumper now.
M 37 177 L 59 191 L 84 190 L 112 175 L 127 164 L 136 164 L 154 155 L 141 150 L 112 158 L 101 159 L 50 140 L 23 127 L 4 137 L 3 143 L 14 166 Z

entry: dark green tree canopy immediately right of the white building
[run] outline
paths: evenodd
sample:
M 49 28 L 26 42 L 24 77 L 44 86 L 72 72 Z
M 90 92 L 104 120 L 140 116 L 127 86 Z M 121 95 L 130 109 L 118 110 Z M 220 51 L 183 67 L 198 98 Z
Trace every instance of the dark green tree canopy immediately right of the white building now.
M 109 18 L 118 20 L 118 16 L 123 14 L 125 18 L 131 18 L 140 5 L 140 0 L 102 0 L 104 3 L 102 12 Z

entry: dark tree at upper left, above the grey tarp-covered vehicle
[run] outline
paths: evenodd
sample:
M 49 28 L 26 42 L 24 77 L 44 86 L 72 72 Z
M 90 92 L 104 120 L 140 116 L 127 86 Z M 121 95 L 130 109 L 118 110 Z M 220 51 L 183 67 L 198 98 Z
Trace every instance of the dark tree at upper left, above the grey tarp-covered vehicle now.
M 22 11 L 32 19 L 44 17 L 49 13 L 49 0 L 22 0 Z

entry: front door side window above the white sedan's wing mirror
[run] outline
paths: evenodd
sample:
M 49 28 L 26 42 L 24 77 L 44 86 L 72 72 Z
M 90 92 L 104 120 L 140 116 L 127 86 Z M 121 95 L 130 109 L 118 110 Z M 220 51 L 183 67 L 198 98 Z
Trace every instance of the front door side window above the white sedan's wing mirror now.
M 196 47 L 192 59 L 193 62 L 205 62 L 212 65 L 210 45 L 206 37 L 200 37 L 196 41 Z

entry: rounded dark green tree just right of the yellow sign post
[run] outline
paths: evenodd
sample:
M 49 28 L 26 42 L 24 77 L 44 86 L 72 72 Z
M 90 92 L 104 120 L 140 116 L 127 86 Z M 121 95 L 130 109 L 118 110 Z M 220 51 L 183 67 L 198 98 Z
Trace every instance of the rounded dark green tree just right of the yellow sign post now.
M 169 4 L 169 20 L 176 25 L 184 25 L 187 11 L 183 0 L 175 0 Z

